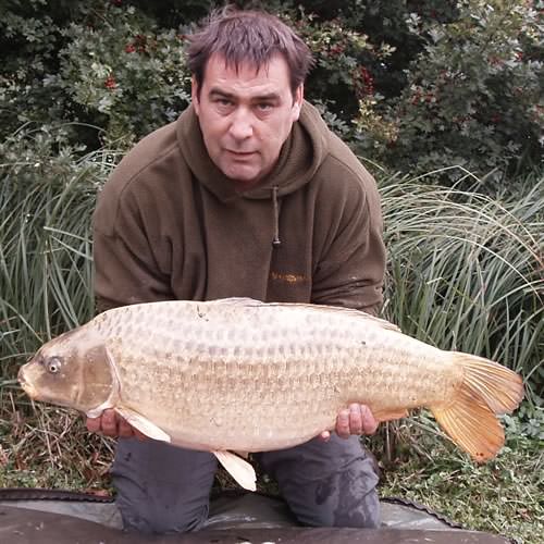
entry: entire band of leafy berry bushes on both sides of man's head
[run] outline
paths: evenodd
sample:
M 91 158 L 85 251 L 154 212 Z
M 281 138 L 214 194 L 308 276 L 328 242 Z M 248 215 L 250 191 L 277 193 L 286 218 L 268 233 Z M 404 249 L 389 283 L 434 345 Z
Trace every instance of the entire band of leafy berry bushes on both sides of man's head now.
M 89 149 L 126 147 L 180 114 L 185 35 L 220 4 L 3 3 L 1 131 L 78 123 L 70 139 Z M 234 3 L 281 13 L 305 37 L 308 98 L 368 159 L 411 173 L 460 165 L 493 188 L 541 164 L 542 1 Z

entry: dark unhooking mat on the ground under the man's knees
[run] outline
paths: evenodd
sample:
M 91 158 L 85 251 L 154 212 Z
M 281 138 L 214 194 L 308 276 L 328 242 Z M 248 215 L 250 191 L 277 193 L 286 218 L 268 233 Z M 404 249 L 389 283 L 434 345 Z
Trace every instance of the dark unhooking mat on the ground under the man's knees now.
M 197 533 L 146 536 L 121 530 L 111 497 L 49 490 L 0 490 L 2 544 L 506 544 L 511 541 L 460 526 L 416 503 L 383 498 L 380 529 L 299 527 L 275 496 L 226 491 L 211 499 L 210 517 Z

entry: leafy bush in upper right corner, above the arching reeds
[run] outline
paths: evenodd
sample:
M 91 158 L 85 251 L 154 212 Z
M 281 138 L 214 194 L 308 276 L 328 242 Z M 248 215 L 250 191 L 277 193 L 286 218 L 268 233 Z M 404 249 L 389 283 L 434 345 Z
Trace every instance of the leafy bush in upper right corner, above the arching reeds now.
M 412 33 L 425 45 L 398 97 L 360 102 L 364 152 L 403 171 L 460 165 L 494 184 L 536 168 L 544 144 L 543 34 L 533 4 L 457 2 L 448 24 L 411 13 Z

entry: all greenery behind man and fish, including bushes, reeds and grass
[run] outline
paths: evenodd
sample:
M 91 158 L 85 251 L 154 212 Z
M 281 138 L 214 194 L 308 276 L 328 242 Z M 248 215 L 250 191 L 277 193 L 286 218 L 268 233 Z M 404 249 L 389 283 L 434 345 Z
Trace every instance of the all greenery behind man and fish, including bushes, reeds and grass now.
M 543 2 L 235 3 L 304 36 L 317 60 L 307 97 L 379 181 L 384 314 L 527 384 L 485 468 L 425 413 L 387 425 L 372 440 L 384 493 L 531 542 L 544 531 Z M 0 0 L 0 485 L 108 487 L 111 443 L 30 406 L 16 368 L 95 313 L 96 193 L 188 104 L 186 35 L 219 4 Z

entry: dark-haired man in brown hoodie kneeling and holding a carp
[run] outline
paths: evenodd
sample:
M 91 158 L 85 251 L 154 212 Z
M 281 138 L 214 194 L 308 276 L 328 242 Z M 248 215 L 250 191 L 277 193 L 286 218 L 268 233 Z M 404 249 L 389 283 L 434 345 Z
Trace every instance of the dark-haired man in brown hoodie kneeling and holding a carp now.
M 376 187 L 304 101 L 311 62 L 299 37 L 260 12 L 215 13 L 193 35 L 193 106 L 144 138 L 99 198 L 100 310 L 245 296 L 376 312 L 384 273 Z M 125 528 L 202 527 L 211 454 L 137 440 L 111 411 L 87 425 L 120 437 L 112 474 Z M 256 457 L 301 523 L 374 527 L 378 478 L 350 434 L 375 428 L 369 409 L 354 405 L 338 415 L 335 434 Z

